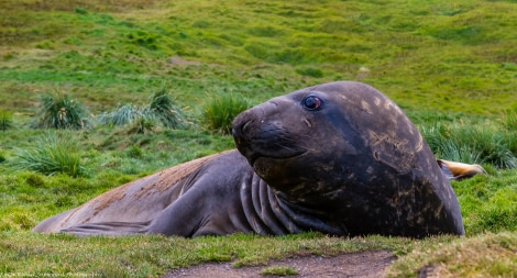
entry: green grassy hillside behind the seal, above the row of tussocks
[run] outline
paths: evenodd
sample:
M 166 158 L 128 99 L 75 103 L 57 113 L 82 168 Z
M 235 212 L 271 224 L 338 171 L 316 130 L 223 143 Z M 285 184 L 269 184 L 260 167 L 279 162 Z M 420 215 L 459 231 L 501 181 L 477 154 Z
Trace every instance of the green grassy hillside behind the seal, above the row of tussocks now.
M 19 107 L 30 104 L 31 91 L 56 86 L 75 91 L 95 112 L 145 100 L 145 87 L 164 79 L 190 105 L 218 88 L 256 103 L 317 82 L 358 78 L 409 110 L 426 103 L 426 111 L 494 115 L 515 107 L 516 8 L 509 2 L 413 2 L 399 9 L 396 0 L 317 8 L 154 1 L 145 12 L 139 1 L 123 9 L 96 1 L 54 3 L 58 9 L 26 2 L 0 5 L 0 76 L 7 84 L 0 99 Z M 13 91 L 25 98 L 10 99 Z

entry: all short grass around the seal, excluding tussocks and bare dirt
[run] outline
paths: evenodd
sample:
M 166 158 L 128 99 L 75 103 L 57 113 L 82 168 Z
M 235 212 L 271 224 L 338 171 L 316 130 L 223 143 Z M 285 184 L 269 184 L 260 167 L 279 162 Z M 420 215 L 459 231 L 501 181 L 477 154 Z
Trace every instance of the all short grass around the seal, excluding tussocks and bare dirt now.
M 501 111 L 517 110 L 516 10 L 512 1 L 8 0 L 0 3 L 0 109 L 16 112 L 15 123 L 23 126 L 41 92 L 65 91 L 98 114 L 118 102 L 144 103 L 165 82 L 196 119 L 207 93 L 241 93 L 258 103 L 306 86 L 354 79 L 383 90 L 418 123 L 497 121 Z M 42 134 L 0 132 L 0 158 Z M 453 274 L 517 273 L 512 255 L 485 273 L 491 263 L 483 256 L 446 263 L 459 249 L 469 256 L 495 244 L 515 252 L 515 232 L 484 233 L 517 226 L 504 223 L 516 219 L 515 170 L 491 169 L 488 177 L 453 184 L 465 215 L 464 240 L 82 240 L 28 233 L 43 218 L 108 188 L 232 147 L 229 137 L 196 131 L 128 135 L 100 127 L 65 135 L 78 142 L 88 177 L 0 175 L 0 273 L 154 276 L 206 260 L 256 264 L 295 252 L 366 248 L 396 249 L 403 257 L 392 270 L 396 276 L 429 264 Z M 0 164 L 0 170 L 8 168 Z M 354 244 L 359 247 L 346 247 Z

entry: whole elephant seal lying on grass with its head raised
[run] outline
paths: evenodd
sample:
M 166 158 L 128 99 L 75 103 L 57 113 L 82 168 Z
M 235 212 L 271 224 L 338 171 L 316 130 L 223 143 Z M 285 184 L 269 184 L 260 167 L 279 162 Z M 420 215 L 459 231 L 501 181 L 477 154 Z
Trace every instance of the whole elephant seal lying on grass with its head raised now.
M 457 197 L 427 143 L 393 101 L 365 84 L 273 98 L 237 116 L 233 137 L 238 151 L 114 188 L 34 231 L 464 234 Z

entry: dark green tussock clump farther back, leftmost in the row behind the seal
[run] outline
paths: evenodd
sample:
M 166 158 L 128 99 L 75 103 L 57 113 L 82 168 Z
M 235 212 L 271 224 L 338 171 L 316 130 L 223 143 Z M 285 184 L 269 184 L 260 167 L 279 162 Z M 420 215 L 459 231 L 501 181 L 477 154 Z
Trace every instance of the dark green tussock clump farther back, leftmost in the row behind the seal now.
M 82 130 L 89 125 L 86 108 L 68 94 L 42 94 L 36 129 Z

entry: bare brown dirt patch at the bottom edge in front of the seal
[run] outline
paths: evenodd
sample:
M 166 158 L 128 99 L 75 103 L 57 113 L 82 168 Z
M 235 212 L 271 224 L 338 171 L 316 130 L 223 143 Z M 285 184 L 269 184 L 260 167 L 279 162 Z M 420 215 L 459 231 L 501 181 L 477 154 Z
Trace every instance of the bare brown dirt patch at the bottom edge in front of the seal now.
M 231 263 L 204 264 L 189 268 L 173 269 L 162 278 L 210 277 L 210 278 L 265 278 L 261 270 L 271 266 L 294 268 L 298 275 L 289 277 L 384 277 L 384 269 L 394 260 L 388 251 L 342 254 L 336 257 L 293 257 L 272 260 L 267 266 L 234 268 Z

